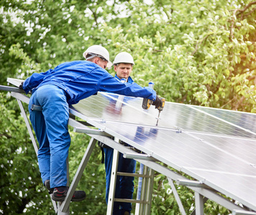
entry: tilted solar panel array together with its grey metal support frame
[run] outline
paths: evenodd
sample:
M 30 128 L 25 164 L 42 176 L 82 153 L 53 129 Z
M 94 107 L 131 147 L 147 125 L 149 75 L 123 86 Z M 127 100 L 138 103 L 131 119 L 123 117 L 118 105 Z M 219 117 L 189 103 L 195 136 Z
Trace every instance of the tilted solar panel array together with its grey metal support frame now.
M 14 79 L 7 81 L 16 86 L 21 82 Z M 20 92 L 12 92 L 12 96 L 18 102 L 28 102 L 28 98 Z M 196 214 L 204 214 L 203 196 L 216 201 L 233 214 L 255 214 L 255 114 L 165 102 L 156 126 L 158 111 L 154 106 L 143 110 L 141 105 L 142 98 L 99 92 L 70 107 L 71 114 L 99 128 L 90 129 L 70 119 L 75 131 L 92 137 L 73 178 L 70 192 L 76 189 L 91 156 L 94 140 L 100 140 L 128 156 L 134 154 L 107 137 L 111 135 L 144 152 L 147 158 L 140 155 L 134 155 L 133 158 L 168 177 L 181 214 L 185 214 L 185 210 L 175 192 L 173 181 L 195 191 Z M 195 180 L 188 181 L 155 161 L 163 162 Z M 220 194 L 234 201 L 224 199 Z M 234 204 L 235 201 L 239 205 Z M 68 204 L 67 198 L 58 210 L 68 213 Z

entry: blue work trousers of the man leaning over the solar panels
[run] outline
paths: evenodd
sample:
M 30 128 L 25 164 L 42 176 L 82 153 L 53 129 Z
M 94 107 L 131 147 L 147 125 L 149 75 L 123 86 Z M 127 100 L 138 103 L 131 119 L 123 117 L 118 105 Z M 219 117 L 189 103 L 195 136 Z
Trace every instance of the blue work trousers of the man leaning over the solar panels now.
M 42 111 L 31 110 L 40 105 Z M 42 182 L 50 180 L 50 187 L 67 186 L 68 103 L 66 92 L 55 85 L 39 87 L 29 100 L 29 119 L 39 142 L 38 164 Z

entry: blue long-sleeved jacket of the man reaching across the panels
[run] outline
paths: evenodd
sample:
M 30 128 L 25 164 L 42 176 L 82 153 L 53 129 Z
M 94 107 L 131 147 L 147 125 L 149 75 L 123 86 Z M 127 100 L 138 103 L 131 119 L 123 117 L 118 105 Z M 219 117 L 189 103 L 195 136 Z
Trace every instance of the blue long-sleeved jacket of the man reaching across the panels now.
M 98 91 L 114 92 L 133 97 L 146 97 L 155 100 L 156 93 L 150 87 L 140 87 L 136 83 L 122 83 L 109 72 L 93 62 L 79 60 L 64 62 L 53 70 L 34 73 L 23 84 L 26 93 L 37 90 L 42 85 L 56 85 L 69 95 L 68 104 L 76 104 L 80 100 L 96 94 Z

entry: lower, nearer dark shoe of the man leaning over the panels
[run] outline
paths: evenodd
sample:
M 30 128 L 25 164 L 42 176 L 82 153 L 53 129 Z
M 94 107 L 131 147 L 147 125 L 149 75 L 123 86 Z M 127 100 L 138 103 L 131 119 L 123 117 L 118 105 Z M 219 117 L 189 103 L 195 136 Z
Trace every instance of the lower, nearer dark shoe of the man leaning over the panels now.
M 64 201 L 65 196 L 68 194 L 68 186 L 66 187 L 58 187 L 54 188 L 53 194 L 52 194 L 52 200 L 54 201 Z M 82 201 L 83 199 L 86 199 L 86 192 L 85 191 L 75 191 L 71 201 Z

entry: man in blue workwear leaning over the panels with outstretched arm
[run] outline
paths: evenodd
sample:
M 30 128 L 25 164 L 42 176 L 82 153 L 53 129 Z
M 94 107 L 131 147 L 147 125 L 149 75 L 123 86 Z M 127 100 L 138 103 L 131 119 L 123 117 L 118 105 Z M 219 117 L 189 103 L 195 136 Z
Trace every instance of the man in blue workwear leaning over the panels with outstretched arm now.
M 64 201 L 68 193 L 69 105 L 98 91 L 146 97 L 154 101 L 156 108 L 161 105 L 160 98 L 150 87 L 122 83 L 104 70 L 112 65 L 104 47 L 88 47 L 83 56 L 86 60 L 64 62 L 47 72 L 34 73 L 19 86 L 26 93 L 32 91 L 29 119 L 39 142 L 38 164 L 42 183 L 53 192 L 54 201 Z M 42 111 L 34 110 L 33 105 L 40 106 Z M 85 198 L 84 191 L 75 191 L 71 201 Z

